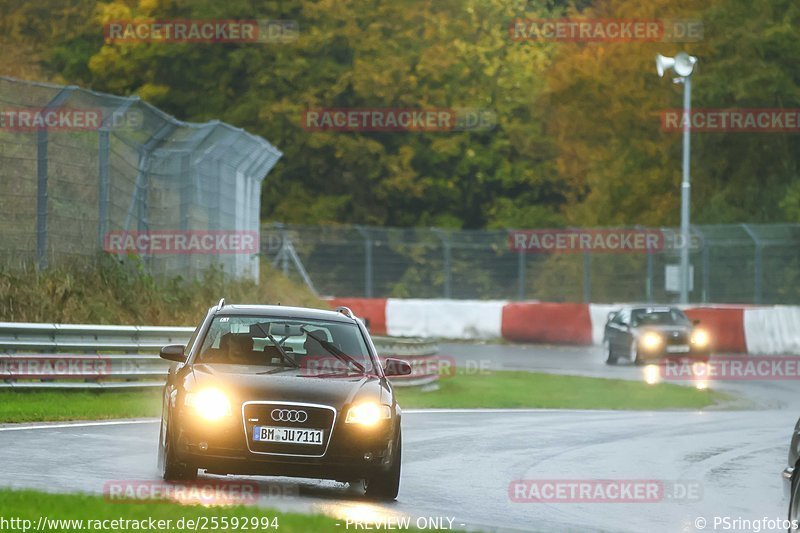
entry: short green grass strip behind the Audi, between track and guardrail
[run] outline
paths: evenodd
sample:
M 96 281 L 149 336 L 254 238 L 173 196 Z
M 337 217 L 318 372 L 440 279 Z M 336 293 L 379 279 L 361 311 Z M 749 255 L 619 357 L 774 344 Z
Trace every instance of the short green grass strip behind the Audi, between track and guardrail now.
M 712 390 L 621 379 L 500 371 L 442 378 L 438 390 L 396 388 L 405 408 L 700 409 L 730 400 Z M 0 422 L 158 417 L 161 392 L 2 391 Z

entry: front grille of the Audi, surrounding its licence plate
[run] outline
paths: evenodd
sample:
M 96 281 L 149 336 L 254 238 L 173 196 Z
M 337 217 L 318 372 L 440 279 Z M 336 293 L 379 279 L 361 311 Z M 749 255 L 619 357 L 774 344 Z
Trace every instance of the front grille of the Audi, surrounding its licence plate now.
M 247 447 L 253 453 L 321 457 L 330 443 L 336 409 L 327 405 L 294 402 L 245 402 L 242 406 Z M 262 442 L 253 439 L 256 426 L 321 429 L 322 444 Z

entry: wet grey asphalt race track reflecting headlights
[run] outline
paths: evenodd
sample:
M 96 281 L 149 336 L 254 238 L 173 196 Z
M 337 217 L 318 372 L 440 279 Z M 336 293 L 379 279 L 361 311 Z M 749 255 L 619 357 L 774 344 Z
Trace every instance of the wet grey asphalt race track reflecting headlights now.
M 495 368 L 626 379 L 641 372 L 608 368 L 586 348 L 448 344 L 442 352 Z M 336 483 L 253 479 L 262 485 L 261 504 L 324 512 L 342 519 L 342 530 L 348 518 L 406 515 L 454 518 L 455 528 L 485 531 L 668 532 L 700 531 L 698 517 L 707 520 L 704 531 L 715 531 L 715 516 L 785 517 L 779 474 L 800 414 L 797 384 L 715 386 L 744 395 L 748 409 L 406 410 L 401 493 L 392 504 L 366 502 Z M 112 480 L 155 481 L 157 436 L 155 421 L 0 428 L 0 484 L 102 493 Z M 657 503 L 514 503 L 508 490 L 517 479 L 698 482 L 702 495 Z

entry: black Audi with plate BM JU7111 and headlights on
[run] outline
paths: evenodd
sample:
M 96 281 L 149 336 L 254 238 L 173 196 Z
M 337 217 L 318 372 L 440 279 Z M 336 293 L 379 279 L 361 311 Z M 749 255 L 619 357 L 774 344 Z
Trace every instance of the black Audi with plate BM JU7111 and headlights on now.
M 267 305 L 209 309 L 164 387 L 159 466 L 167 480 L 213 474 L 364 482 L 394 499 L 401 410 L 364 324 L 347 308 Z

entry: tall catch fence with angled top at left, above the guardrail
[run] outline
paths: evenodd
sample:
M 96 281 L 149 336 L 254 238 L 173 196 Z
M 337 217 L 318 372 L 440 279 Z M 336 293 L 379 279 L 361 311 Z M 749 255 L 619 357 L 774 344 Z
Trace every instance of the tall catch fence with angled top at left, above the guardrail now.
M 181 122 L 138 98 L 0 77 L 0 264 L 105 250 L 136 252 L 154 275 L 214 264 L 256 276 L 261 181 L 280 156 L 243 130 Z

